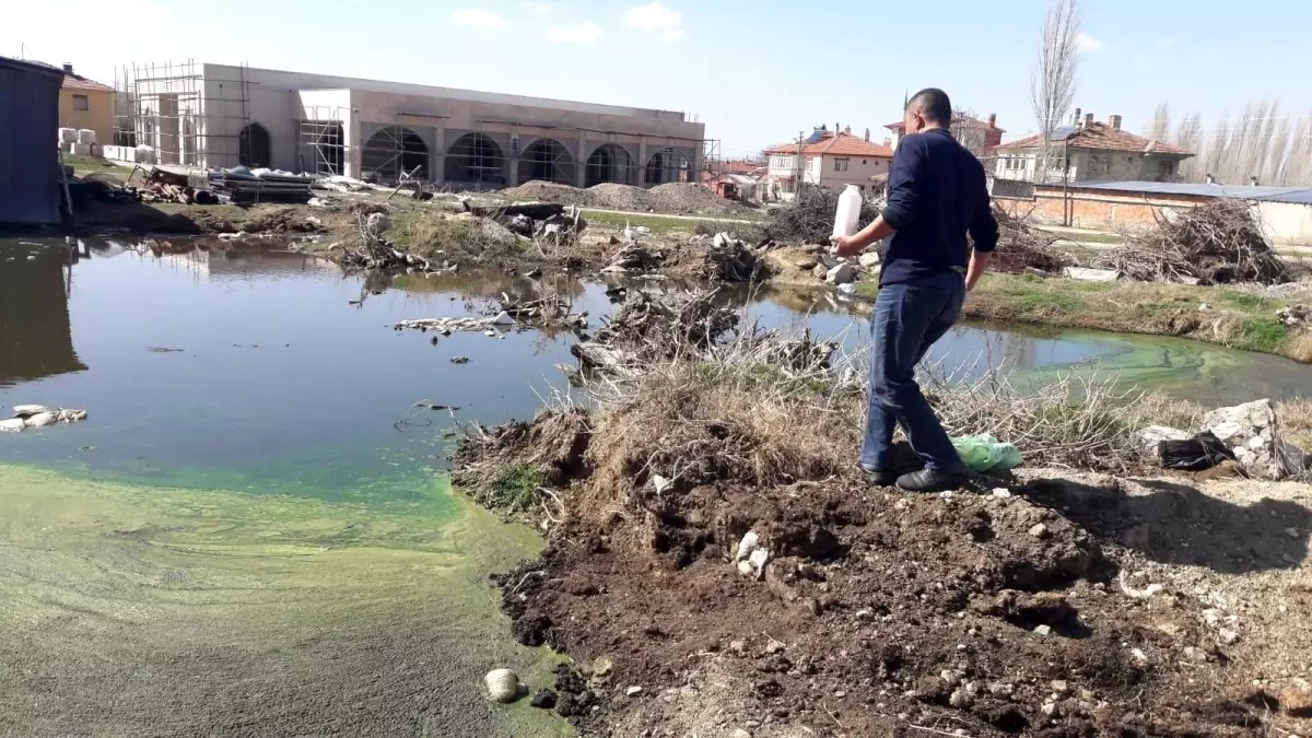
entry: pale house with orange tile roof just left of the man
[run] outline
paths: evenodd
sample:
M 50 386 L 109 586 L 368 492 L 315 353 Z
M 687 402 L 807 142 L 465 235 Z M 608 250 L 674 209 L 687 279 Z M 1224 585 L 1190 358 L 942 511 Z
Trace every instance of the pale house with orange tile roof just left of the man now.
M 870 177 L 887 173 L 893 150 L 886 143 L 841 131 L 816 129 L 806 141 L 768 148 L 766 183 L 779 200 L 792 200 L 798 184 L 842 188 L 854 184 L 870 192 Z

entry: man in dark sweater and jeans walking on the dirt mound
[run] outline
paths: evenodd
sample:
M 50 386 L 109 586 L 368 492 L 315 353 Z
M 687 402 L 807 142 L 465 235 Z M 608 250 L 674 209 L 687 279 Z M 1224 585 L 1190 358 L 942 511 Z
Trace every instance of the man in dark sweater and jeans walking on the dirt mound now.
M 883 214 L 855 235 L 833 238 L 834 253 L 851 256 L 892 236 L 871 322 L 874 357 L 861 467 L 872 483 L 896 482 L 922 492 L 958 488 L 970 471 L 920 391 L 916 365 L 960 318 L 966 293 L 997 247 L 984 167 L 953 138 L 951 121 L 946 92 L 917 92 L 907 104 L 907 134 L 893 155 Z M 888 454 L 896 424 L 925 469 L 895 479 Z

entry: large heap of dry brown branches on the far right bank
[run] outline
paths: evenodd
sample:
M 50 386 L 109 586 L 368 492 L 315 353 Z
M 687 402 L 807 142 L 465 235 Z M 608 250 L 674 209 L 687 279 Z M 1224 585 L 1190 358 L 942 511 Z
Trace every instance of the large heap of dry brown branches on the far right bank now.
M 1212 200 L 1170 218 L 1158 217 L 1156 228 L 1130 236 L 1096 265 L 1141 282 L 1277 285 L 1291 280 L 1249 205 L 1239 200 Z

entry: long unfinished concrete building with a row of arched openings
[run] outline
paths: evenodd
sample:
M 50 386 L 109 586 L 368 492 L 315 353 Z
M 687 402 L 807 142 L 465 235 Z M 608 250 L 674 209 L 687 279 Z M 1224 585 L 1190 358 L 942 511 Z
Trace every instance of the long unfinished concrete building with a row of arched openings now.
M 119 138 L 161 164 L 272 167 L 454 188 L 695 181 L 684 113 L 226 64 L 135 66 Z

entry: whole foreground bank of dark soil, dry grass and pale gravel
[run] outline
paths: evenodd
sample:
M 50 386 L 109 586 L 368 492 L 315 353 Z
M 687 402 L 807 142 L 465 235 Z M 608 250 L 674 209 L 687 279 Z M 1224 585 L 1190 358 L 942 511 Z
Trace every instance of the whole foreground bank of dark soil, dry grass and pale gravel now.
M 558 682 L 586 730 L 1302 733 L 1308 486 L 1149 470 L 1117 439 L 1169 406 L 942 395 L 950 424 L 1048 423 L 1059 443 L 1027 458 L 1115 474 L 872 488 L 859 393 L 695 345 L 457 454 L 476 499 L 548 531 L 504 607 L 579 664 Z

